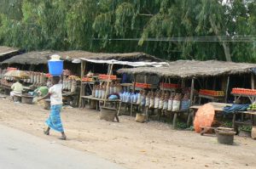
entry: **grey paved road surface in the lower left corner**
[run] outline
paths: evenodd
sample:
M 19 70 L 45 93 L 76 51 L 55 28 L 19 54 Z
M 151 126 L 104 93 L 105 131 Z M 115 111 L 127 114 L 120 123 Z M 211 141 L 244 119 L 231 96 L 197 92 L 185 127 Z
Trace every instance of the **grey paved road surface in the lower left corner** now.
M 121 169 L 94 155 L 0 125 L 1 169 Z

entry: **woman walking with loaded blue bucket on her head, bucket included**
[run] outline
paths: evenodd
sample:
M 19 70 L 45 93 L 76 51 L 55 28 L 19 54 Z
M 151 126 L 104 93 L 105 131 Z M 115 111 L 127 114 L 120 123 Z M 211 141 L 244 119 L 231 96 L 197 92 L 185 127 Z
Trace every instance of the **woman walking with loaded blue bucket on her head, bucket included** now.
M 50 115 L 46 121 L 47 129 L 44 134 L 49 135 L 49 130 L 54 129 L 57 132 L 61 132 L 61 139 L 67 139 L 61 123 L 61 107 L 62 107 L 62 84 L 61 74 L 63 70 L 63 61 L 60 60 L 60 56 L 53 55 L 52 59 L 49 60 L 49 74 L 52 77 L 52 87 L 49 87 L 49 93 L 44 96 L 47 99 L 50 98 Z

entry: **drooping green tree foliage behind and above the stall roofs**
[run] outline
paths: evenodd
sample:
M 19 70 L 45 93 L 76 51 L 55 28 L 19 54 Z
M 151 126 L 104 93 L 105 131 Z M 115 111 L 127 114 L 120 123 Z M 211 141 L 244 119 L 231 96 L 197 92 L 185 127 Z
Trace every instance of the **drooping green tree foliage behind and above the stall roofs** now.
M 3 0 L 0 44 L 35 49 L 142 51 L 162 59 L 256 61 L 256 3 L 242 0 Z M 186 37 L 188 41 L 153 41 Z M 217 37 L 196 42 L 190 37 Z M 140 39 L 111 40 L 111 39 Z

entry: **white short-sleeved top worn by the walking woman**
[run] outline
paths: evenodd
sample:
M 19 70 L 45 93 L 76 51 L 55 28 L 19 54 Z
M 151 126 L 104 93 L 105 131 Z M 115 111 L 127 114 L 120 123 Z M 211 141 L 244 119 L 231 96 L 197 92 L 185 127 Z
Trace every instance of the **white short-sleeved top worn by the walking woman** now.
M 62 84 L 55 84 L 53 87 L 49 87 L 49 94 L 51 105 L 62 104 Z

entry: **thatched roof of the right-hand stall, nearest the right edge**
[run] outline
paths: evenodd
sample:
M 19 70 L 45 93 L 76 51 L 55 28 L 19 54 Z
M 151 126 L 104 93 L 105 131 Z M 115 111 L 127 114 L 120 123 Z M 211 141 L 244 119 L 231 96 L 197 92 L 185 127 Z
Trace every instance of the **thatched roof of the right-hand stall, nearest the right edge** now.
M 120 69 L 119 73 L 157 75 L 177 78 L 191 78 L 193 76 L 221 76 L 250 72 L 256 68 L 256 64 L 234 63 L 224 61 L 196 61 L 177 60 L 170 62 L 168 67 L 152 69 L 139 67 L 131 69 Z

